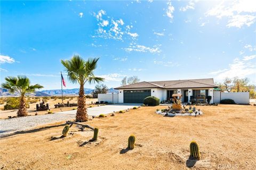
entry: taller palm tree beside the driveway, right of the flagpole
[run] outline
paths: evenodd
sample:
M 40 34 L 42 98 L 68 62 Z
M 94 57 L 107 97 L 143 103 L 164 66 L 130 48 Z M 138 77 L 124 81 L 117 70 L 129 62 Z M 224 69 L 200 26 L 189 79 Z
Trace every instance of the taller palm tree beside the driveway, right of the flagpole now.
M 68 80 L 72 83 L 79 83 L 79 96 L 78 96 L 78 108 L 76 113 L 77 122 L 88 121 L 87 108 L 85 105 L 85 95 L 84 95 L 84 84 L 88 83 L 99 83 L 104 81 L 103 78 L 95 77 L 93 71 L 97 67 L 97 62 L 99 58 L 89 58 L 85 61 L 79 55 L 74 55 L 70 60 L 61 60 L 62 65 L 65 67 L 68 73 Z

